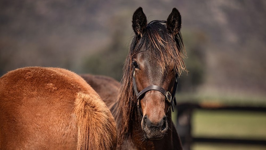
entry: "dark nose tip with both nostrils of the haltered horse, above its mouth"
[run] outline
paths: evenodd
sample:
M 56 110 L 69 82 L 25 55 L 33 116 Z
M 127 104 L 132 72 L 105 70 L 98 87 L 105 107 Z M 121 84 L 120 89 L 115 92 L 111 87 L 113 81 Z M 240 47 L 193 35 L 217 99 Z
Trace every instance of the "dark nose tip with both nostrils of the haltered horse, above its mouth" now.
M 151 120 L 145 115 L 143 117 L 143 125 L 150 129 L 154 128 L 159 131 L 164 131 L 168 128 L 166 116 L 164 116 L 159 122 L 151 122 Z

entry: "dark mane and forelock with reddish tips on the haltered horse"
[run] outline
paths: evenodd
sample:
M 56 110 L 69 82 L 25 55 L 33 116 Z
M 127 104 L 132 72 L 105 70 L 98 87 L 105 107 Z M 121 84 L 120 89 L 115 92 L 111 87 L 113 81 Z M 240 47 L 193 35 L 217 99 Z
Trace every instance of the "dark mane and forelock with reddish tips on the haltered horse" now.
M 134 36 L 129 54 L 123 68 L 123 78 L 121 79 L 121 87 L 118 92 L 117 106 L 114 108 L 114 118 L 117 123 L 118 139 L 125 139 L 131 134 L 130 128 L 135 122 L 136 98 L 132 83 L 132 56 L 141 52 L 141 50 L 150 50 L 151 57 L 157 60 L 162 71 L 167 66 L 173 64 L 177 74 L 186 71 L 184 63 L 185 49 L 181 33 L 175 37 L 168 33 L 166 29 L 166 21 L 154 20 L 147 25 L 146 32 L 142 37 Z M 146 49 L 141 49 L 145 46 Z M 125 135 L 123 133 L 128 133 Z M 118 142 L 119 145 L 119 142 Z

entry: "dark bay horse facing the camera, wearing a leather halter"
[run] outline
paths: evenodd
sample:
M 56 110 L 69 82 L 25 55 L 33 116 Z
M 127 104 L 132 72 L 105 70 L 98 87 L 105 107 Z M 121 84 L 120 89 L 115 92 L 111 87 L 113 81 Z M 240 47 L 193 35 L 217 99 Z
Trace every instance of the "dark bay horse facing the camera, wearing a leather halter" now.
M 139 7 L 133 14 L 132 27 L 135 36 L 124 64 L 121 85 L 112 91 L 117 98 L 107 99 L 108 103 L 114 101 L 110 110 L 117 126 L 117 149 L 181 150 L 170 112 L 176 104 L 177 78 L 186 71 L 181 15 L 173 8 L 166 21 L 147 23 Z M 105 90 L 96 89 L 104 100 L 108 88 L 113 86 L 109 86 L 110 80 L 102 79 L 87 79 L 87 82 L 93 88 L 106 85 Z

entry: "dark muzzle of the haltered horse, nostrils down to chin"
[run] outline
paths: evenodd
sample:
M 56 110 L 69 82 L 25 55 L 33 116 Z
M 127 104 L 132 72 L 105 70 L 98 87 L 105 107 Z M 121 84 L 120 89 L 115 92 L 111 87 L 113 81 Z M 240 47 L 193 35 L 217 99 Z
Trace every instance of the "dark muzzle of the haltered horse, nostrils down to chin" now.
M 151 122 L 145 115 L 142 121 L 142 130 L 144 136 L 149 140 L 160 140 L 164 137 L 164 134 L 168 130 L 168 122 L 166 116 L 160 120 L 160 122 Z

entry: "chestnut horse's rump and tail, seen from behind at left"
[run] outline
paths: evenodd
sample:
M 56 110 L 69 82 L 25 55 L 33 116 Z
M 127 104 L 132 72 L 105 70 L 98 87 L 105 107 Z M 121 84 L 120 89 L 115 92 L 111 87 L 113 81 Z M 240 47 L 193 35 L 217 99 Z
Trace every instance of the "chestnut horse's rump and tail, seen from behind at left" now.
M 25 67 L 0 78 L 0 149 L 116 149 L 114 117 L 79 75 Z

